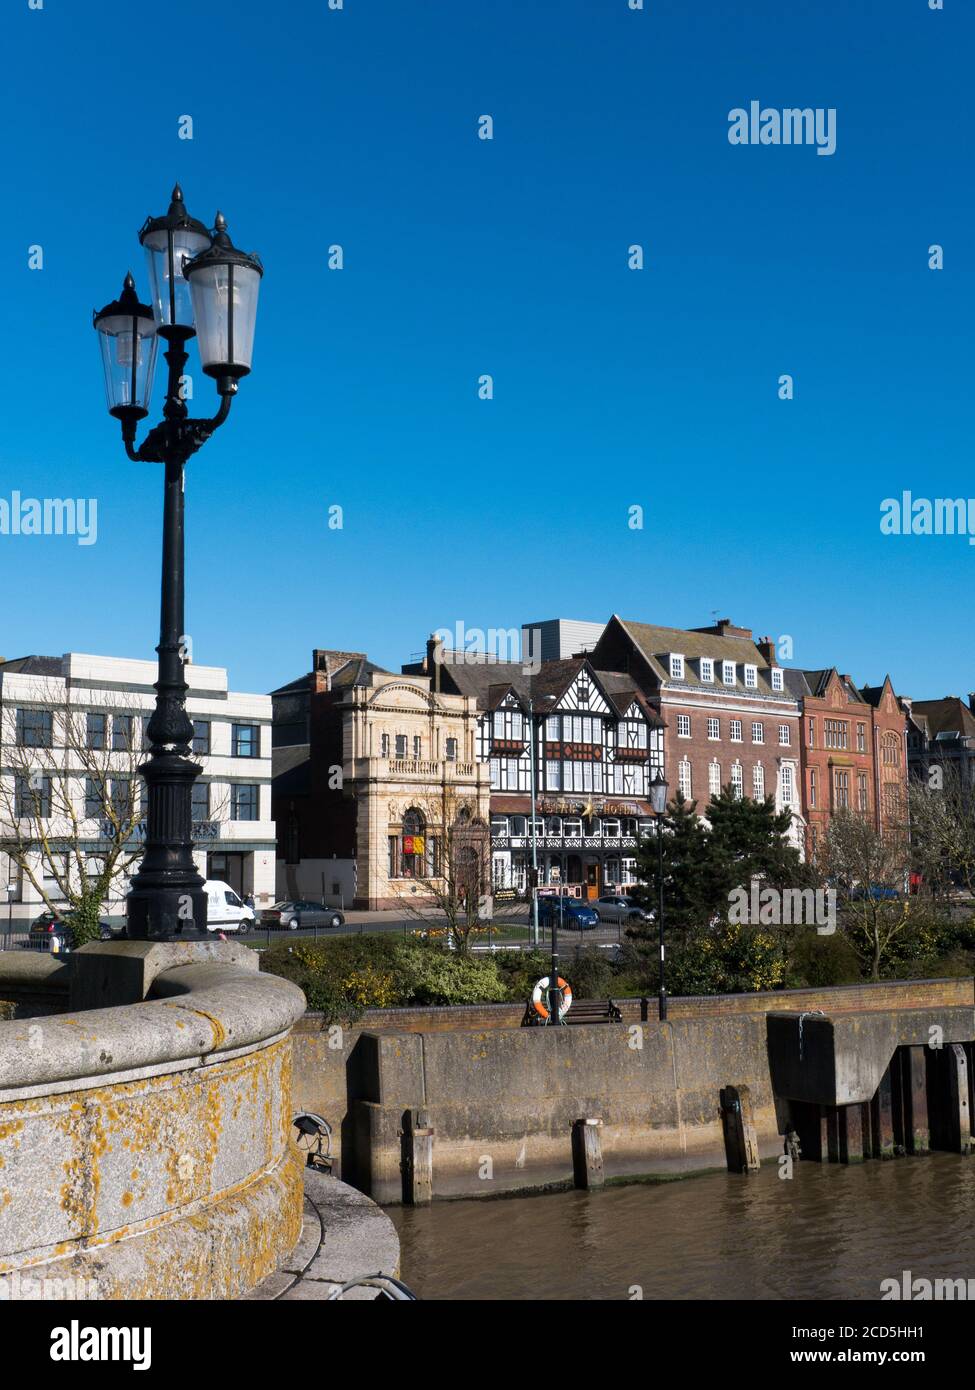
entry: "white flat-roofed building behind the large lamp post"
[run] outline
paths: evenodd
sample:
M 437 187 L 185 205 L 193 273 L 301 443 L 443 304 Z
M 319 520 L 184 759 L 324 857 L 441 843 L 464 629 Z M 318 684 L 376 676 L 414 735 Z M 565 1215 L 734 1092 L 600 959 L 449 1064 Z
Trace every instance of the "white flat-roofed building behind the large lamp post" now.
M 57 874 L 47 866 L 51 855 L 67 856 L 71 873 L 75 853 L 97 863 L 106 852 L 108 824 L 104 808 L 92 798 L 86 758 L 78 744 L 61 730 L 71 716 L 72 730 L 81 730 L 88 746 L 104 749 L 107 770 L 117 771 L 111 795 L 127 784 L 138 784 L 120 795 L 139 796 L 145 785 L 134 774 L 147 756 L 146 726 L 154 709 L 156 662 L 89 656 L 28 656 L 0 662 L 0 780 L 4 816 L 17 816 L 22 799 L 19 781 L 29 746 L 38 769 L 32 808 L 39 835 L 47 849 L 31 849 L 32 874 L 58 903 Z M 227 671 L 216 666 L 186 664 L 186 713 L 193 721 L 193 758 L 203 773 L 193 788 L 193 859 L 204 878 L 221 878 L 241 895 L 253 894 L 260 909 L 274 898 L 275 833 L 271 820 L 271 699 L 228 689 Z M 114 762 L 113 762 L 114 760 Z M 46 776 L 46 769 L 50 774 Z M 47 792 L 45 792 L 47 781 Z M 50 784 L 54 784 L 54 792 Z M 47 795 L 49 801 L 45 801 Z M 39 798 L 39 799 L 38 799 Z M 39 810 L 38 810 L 39 808 Z M 43 813 L 50 810 L 49 816 Z M 138 824 L 129 841 L 138 853 L 145 824 Z M 10 840 L 7 819 L 0 824 L 0 841 Z M 10 844 L 8 844 L 10 848 Z M 103 912 L 121 917 L 131 876 L 117 877 L 103 903 Z M 7 890 L 4 894 L 3 890 Z M 45 895 L 24 873 L 15 858 L 0 844 L 0 912 L 4 897 L 13 919 L 33 919 L 45 908 Z M 61 898 L 63 901 L 63 898 Z

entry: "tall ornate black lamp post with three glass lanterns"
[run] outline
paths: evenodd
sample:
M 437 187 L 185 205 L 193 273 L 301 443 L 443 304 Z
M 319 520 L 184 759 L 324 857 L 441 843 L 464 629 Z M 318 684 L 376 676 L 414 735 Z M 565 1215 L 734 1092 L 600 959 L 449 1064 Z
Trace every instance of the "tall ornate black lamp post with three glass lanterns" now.
M 184 620 L 184 467 L 227 418 L 241 377 L 250 371 L 263 267 L 238 252 L 217 214 L 209 232 L 189 217 L 179 185 L 166 217 L 139 232 L 149 260 L 152 309 L 139 303 L 132 275 L 121 296 L 95 314 L 102 341 L 108 413 L 136 463 L 161 463 L 163 592 L 156 709 L 149 720 L 149 758 L 139 767 L 149 810 L 145 852 L 128 895 L 127 934 L 142 940 L 206 933 L 206 894 L 193 863 L 193 726 L 186 716 Z M 220 409 L 191 420 L 184 393 L 186 345 L 199 335 L 203 371 L 216 377 Z M 163 420 L 135 448 L 149 414 L 157 341 L 167 345 L 168 381 Z

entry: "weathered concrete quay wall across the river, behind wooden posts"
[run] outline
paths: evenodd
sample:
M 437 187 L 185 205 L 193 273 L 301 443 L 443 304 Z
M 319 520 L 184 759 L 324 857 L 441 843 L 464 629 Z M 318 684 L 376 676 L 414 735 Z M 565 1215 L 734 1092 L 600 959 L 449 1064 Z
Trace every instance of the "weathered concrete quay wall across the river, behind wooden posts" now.
M 608 1177 L 725 1165 L 719 1091 L 747 1086 L 762 1156 L 782 1152 L 768 1015 L 971 1017 L 974 981 L 892 981 L 670 1001 L 616 1001 L 623 1023 L 522 1029 L 520 1006 L 370 1011 L 356 1029 L 295 1030 L 295 1097 L 334 1126 L 338 1169 L 380 1202 L 402 1197 L 410 1109 L 434 1130 L 434 1195 L 495 1195 L 572 1177 L 572 1123 L 602 1120 Z M 965 1009 L 968 1013 L 965 1015 Z M 882 1031 L 887 1031 L 886 1029 Z M 897 1036 L 894 1029 L 892 1037 Z

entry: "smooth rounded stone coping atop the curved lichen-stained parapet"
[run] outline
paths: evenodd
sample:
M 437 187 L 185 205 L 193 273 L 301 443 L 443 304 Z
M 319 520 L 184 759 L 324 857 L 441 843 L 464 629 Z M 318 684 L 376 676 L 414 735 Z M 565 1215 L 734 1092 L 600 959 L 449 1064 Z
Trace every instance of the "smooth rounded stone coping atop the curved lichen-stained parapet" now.
M 31 984 L 51 981 L 64 966 L 3 960 L 0 984 L 11 969 L 19 984 Z M 267 1042 L 303 1013 L 305 995 L 278 976 L 217 959 L 179 965 L 154 979 L 143 1004 L 0 1023 L 0 1099 L 199 1065 Z

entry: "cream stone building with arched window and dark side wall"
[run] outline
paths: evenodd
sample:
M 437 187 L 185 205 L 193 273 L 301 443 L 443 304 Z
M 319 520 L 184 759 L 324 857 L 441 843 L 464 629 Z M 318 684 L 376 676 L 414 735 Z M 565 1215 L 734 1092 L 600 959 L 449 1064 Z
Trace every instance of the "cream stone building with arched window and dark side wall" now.
M 456 852 L 483 859 L 487 878 L 488 770 L 472 698 L 363 652 L 320 649 L 271 701 L 278 897 L 396 908 L 442 888 Z

